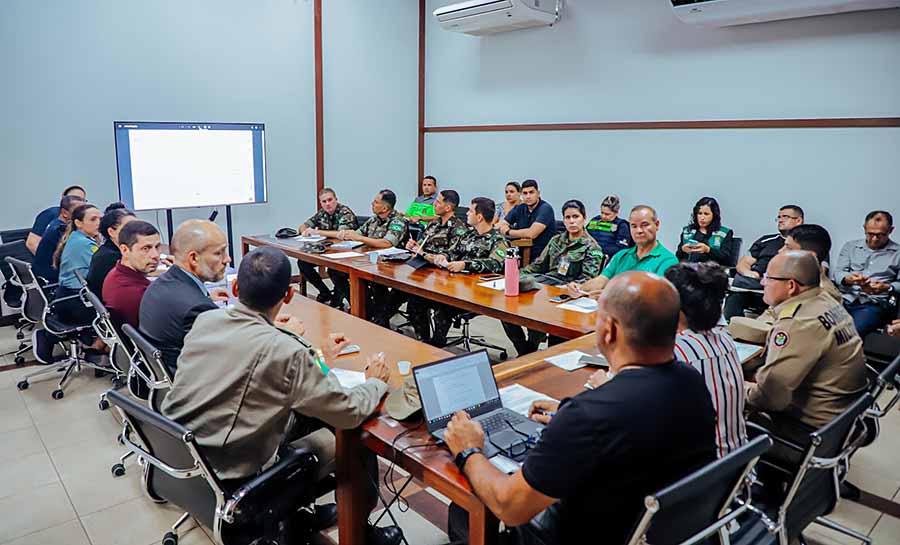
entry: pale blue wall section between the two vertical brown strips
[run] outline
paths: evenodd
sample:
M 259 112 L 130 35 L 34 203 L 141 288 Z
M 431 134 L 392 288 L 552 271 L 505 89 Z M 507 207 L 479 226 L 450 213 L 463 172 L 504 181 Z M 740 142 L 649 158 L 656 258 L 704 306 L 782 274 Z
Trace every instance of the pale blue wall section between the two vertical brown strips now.
M 322 4 L 325 185 L 359 214 L 382 188 L 405 210 L 416 195 L 417 4 Z

